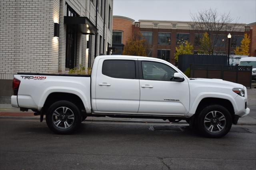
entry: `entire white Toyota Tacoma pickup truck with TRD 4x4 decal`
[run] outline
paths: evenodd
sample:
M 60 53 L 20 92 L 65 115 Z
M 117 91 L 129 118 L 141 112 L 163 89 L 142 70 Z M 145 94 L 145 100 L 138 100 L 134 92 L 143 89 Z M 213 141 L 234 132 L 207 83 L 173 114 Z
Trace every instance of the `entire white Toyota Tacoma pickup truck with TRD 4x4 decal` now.
M 226 135 L 249 114 L 247 90 L 221 79 L 189 79 L 167 61 L 138 56 L 95 58 L 90 75 L 18 73 L 13 107 L 46 115 L 58 134 L 78 128 L 86 117 L 186 120 L 204 136 Z

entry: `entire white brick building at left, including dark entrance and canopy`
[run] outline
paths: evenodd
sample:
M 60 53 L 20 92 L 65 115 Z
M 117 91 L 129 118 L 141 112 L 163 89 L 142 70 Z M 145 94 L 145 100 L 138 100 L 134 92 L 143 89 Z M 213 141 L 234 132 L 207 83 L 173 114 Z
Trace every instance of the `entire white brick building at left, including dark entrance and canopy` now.
M 17 72 L 67 73 L 109 53 L 113 0 L 2 0 L 0 100 Z

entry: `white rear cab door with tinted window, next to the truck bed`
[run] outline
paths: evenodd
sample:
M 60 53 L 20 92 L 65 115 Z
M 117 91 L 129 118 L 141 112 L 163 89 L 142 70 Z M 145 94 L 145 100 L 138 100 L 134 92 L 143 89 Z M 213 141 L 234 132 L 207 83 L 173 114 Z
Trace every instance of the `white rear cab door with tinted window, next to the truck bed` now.
M 94 113 L 137 113 L 140 103 L 138 59 L 102 58 L 96 75 Z

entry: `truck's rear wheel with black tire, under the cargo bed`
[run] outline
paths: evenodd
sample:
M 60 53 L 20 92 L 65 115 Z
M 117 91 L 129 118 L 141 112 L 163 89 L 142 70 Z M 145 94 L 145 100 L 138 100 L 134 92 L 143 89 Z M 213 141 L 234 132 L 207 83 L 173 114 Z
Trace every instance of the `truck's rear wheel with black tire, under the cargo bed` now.
M 49 107 L 46 123 L 57 134 L 71 134 L 80 125 L 81 114 L 74 103 L 57 101 Z

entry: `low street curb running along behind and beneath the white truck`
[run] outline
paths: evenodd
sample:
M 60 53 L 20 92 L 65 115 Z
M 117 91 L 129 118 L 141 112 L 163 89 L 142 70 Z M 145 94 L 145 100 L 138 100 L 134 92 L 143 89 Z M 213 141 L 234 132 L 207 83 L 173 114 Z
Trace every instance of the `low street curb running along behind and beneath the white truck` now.
M 38 120 L 40 121 L 39 117 L 13 117 L 13 116 L 0 116 L 0 119 L 24 119 L 24 120 Z M 45 121 L 45 118 L 44 118 Z M 163 123 L 163 124 L 172 124 L 169 122 L 163 121 L 127 121 L 127 120 L 85 120 L 84 122 L 122 122 L 122 123 Z M 175 124 L 186 124 L 185 122 L 175 122 Z M 256 123 L 238 123 L 237 125 L 256 125 Z

